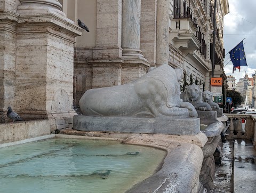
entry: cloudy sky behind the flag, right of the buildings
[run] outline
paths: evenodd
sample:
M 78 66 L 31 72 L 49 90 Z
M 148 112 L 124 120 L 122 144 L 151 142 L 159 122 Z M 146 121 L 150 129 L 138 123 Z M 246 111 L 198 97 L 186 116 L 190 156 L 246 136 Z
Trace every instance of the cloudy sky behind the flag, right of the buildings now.
M 224 70 L 226 75 L 234 75 L 239 81 L 246 74 L 252 77 L 256 70 L 256 1 L 255 0 L 229 0 L 229 13 L 224 17 L 224 47 L 226 54 L 244 38 L 244 51 L 247 66 L 241 66 L 232 74 L 233 64 L 229 54 L 226 55 Z M 229 62 L 230 61 L 230 62 Z M 229 62 L 229 63 L 228 63 Z M 228 64 L 227 64 L 228 63 Z

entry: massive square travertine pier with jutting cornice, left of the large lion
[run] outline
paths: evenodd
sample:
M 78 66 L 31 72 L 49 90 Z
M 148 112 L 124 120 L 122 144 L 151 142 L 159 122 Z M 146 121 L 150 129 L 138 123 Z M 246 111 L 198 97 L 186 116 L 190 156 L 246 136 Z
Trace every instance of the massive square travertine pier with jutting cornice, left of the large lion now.
M 52 130 L 72 127 L 74 44 L 83 29 L 58 1 L 20 2 L 13 109 L 25 119 L 50 119 Z

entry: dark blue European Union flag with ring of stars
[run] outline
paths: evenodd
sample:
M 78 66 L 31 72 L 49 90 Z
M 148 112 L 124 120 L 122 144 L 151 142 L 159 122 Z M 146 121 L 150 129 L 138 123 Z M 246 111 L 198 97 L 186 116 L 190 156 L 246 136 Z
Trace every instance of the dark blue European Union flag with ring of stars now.
M 233 73 L 236 68 L 240 71 L 240 66 L 247 66 L 243 41 L 237 44 L 234 49 L 229 51 L 229 56 L 233 63 Z

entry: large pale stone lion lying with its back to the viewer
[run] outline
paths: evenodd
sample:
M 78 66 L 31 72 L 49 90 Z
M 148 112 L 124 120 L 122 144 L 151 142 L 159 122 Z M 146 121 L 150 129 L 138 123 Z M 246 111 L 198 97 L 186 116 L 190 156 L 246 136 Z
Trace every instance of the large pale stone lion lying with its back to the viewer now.
M 87 90 L 79 101 L 83 115 L 197 117 L 180 97 L 181 68 L 157 67 L 129 84 Z

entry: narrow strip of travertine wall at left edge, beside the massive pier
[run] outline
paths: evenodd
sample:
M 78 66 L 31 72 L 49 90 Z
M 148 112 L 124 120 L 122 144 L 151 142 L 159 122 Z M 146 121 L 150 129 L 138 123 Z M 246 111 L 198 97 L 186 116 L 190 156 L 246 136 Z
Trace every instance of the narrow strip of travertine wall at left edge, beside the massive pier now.
M 0 0 L 0 123 L 15 95 L 16 10 L 16 1 Z

